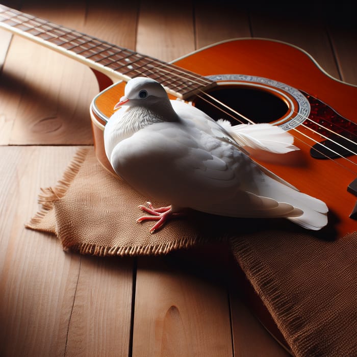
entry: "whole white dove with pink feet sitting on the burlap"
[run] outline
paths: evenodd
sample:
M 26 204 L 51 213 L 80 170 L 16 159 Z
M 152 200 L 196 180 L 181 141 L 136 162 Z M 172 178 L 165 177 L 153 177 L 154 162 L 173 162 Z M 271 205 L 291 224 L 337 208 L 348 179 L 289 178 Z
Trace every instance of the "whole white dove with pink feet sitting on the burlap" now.
M 161 84 L 143 77 L 127 83 L 118 108 L 104 131 L 113 169 L 143 196 L 170 203 L 157 209 L 149 202 L 139 206 L 151 216 L 138 222 L 157 221 L 150 233 L 187 208 L 229 217 L 285 217 L 311 230 L 327 224 L 323 201 L 299 192 L 242 148 L 296 149 L 282 129 L 217 122 L 183 101 L 170 100 Z

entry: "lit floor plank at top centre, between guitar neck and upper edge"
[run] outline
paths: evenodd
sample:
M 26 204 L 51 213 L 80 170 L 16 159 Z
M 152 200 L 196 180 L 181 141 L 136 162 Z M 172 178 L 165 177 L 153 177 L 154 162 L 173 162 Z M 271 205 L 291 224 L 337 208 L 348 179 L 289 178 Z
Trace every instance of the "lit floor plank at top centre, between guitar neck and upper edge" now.
M 195 49 L 192 4 L 141 1 L 137 52 L 169 62 Z

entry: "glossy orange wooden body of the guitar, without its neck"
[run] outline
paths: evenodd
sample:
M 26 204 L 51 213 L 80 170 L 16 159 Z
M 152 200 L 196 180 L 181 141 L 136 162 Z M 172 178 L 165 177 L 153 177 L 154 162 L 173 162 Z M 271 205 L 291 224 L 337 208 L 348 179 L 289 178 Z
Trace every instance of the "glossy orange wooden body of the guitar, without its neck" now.
M 253 121 L 257 121 L 254 118 L 257 116 L 260 122 L 272 122 L 289 130 L 299 151 L 279 156 L 278 160 L 269 155 L 252 155 L 252 158 L 299 190 L 326 202 L 330 210 L 330 239 L 356 231 L 357 222 L 349 215 L 357 198 L 347 192 L 348 185 L 356 179 L 356 155 L 334 160 L 312 158 L 311 146 L 323 141 L 322 135 L 326 134 L 314 133 L 302 123 L 314 114 L 314 106 L 318 103 L 322 110 L 327 108 L 333 113 L 337 121 L 347 119 L 347 125 L 355 133 L 357 87 L 330 77 L 303 50 L 264 39 L 222 42 L 198 50 L 174 64 L 203 76 L 212 76 L 218 83 L 213 89 L 218 93 L 217 97 L 222 101 L 224 97 L 230 97 L 228 105 L 235 109 L 237 104 L 238 112 L 243 104 L 245 111 L 248 108 L 244 114 Z M 110 171 L 104 152 L 103 130 L 124 87 L 124 82 L 108 87 L 93 99 L 91 105 L 97 157 Z M 210 112 L 198 96 L 190 100 L 214 119 L 222 117 L 220 112 Z M 251 116 L 249 108 L 253 109 Z M 314 122 L 312 126 L 317 127 L 319 123 Z

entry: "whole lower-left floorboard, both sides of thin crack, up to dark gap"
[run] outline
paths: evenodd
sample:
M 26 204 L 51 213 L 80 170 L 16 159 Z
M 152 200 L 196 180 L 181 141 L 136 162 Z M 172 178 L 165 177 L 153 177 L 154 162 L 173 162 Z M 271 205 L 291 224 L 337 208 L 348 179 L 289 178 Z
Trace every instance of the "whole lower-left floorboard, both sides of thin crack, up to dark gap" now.
M 132 259 L 65 253 L 24 228 L 75 147 L 0 147 L 0 354 L 128 355 Z M 8 160 L 11 158 L 11 160 Z

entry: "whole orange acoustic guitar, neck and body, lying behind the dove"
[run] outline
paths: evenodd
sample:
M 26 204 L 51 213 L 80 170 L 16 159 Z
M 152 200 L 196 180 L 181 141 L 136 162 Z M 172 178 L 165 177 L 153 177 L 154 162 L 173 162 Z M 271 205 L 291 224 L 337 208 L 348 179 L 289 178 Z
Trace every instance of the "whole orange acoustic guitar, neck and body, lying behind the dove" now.
M 90 107 L 95 150 L 108 170 L 104 126 L 125 82 L 146 76 L 162 83 L 171 98 L 190 101 L 215 119 L 270 122 L 288 130 L 299 151 L 278 160 L 252 153 L 253 159 L 326 202 L 331 238 L 356 231 L 357 87 L 330 77 L 302 49 L 234 39 L 165 63 L 3 5 L 0 27 L 93 70 L 100 88 Z

